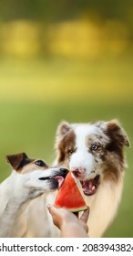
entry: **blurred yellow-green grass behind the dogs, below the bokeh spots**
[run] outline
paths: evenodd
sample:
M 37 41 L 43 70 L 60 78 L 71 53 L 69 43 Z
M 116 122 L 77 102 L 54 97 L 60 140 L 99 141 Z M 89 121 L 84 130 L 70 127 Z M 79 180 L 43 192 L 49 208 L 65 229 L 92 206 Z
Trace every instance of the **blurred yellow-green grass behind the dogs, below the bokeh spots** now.
M 0 61 L 0 180 L 10 173 L 5 155 L 26 152 L 51 163 L 56 127 L 118 118 L 133 143 L 133 62 L 123 59 Z M 118 85 L 118 87 L 117 87 Z M 133 236 L 133 150 L 118 216 L 106 237 Z M 111 209 L 109 209 L 111 210 Z

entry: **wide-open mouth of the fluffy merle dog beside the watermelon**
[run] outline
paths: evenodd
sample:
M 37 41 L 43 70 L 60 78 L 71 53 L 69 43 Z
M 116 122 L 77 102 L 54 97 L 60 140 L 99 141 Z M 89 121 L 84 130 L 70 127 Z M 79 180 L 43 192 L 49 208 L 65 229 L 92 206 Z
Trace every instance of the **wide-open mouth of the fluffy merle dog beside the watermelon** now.
M 100 176 L 97 175 L 95 178 L 89 180 L 80 181 L 83 188 L 83 192 L 86 196 L 92 196 L 97 192 L 97 187 L 100 184 Z

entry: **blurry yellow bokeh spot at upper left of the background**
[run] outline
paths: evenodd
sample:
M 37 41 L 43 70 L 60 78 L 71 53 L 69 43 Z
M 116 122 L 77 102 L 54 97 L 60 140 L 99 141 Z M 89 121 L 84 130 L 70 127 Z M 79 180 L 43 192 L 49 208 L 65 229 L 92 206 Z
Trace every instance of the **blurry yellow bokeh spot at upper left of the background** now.
M 6 54 L 31 56 L 39 51 L 37 24 L 25 20 L 14 21 L 3 27 L 2 48 Z

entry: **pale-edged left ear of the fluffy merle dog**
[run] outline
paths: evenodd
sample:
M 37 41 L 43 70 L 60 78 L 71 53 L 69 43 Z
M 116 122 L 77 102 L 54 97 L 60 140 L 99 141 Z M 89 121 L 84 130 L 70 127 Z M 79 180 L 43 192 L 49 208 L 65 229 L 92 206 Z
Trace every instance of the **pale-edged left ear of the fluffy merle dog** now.
M 58 125 L 57 131 L 56 131 L 56 137 L 62 138 L 64 135 L 66 135 L 71 130 L 71 125 L 67 122 L 62 122 Z

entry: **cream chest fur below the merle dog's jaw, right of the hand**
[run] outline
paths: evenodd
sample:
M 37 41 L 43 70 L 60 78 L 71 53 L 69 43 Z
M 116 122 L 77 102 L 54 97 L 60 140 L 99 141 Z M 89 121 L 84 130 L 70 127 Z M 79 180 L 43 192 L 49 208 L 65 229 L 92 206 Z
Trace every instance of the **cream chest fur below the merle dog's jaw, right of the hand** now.
M 103 236 L 108 225 L 117 214 L 118 205 L 123 189 L 123 177 L 115 186 L 111 182 L 103 182 L 95 195 L 85 197 L 87 205 L 90 207 L 90 214 L 87 221 L 89 236 L 98 238 Z

